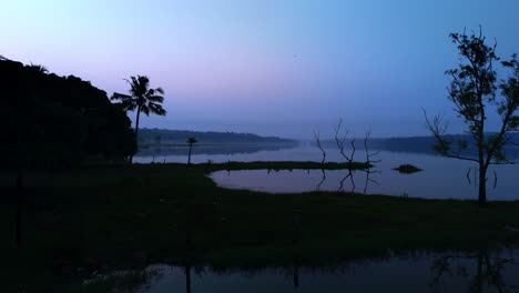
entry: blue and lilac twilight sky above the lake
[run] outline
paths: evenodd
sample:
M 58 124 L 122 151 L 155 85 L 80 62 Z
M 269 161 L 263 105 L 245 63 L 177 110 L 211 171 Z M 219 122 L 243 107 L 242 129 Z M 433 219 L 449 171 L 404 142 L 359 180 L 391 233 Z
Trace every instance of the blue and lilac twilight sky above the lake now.
M 325 138 L 342 118 L 353 135 L 426 135 L 424 108 L 459 133 L 448 34 L 481 26 L 507 58 L 518 14 L 517 0 L 2 0 L 0 54 L 109 95 L 147 75 L 167 110 L 147 128 Z

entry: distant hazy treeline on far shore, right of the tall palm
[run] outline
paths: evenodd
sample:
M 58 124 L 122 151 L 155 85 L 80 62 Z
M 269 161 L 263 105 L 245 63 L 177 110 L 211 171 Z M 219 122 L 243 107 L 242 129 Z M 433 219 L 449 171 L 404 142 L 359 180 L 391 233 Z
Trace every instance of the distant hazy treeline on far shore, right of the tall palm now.
M 214 131 L 189 131 L 189 130 L 167 130 L 167 129 L 140 129 L 139 143 L 141 144 L 161 144 L 161 143 L 182 143 L 185 144 L 189 138 L 196 138 L 199 143 L 286 143 L 296 144 L 297 141 L 282 139 L 277 137 L 260 137 L 252 133 L 236 132 L 214 132 Z

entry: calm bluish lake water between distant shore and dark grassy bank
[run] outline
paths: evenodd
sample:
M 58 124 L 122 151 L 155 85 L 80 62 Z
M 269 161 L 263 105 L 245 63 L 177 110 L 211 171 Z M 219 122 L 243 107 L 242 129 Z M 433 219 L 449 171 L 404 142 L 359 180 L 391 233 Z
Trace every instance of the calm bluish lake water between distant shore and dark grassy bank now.
M 173 150 L 147 150 L 135 156 L 136 162 L 185 162 L 186 148 Z M 199 153 L 197 153 L 199 152 Z M 326 149 L 327 161 L 343 162 L 337 149 Z M 302 144 L 288 149 L 245 150 L 228 146 L 194 149 L 192 161 L 196 163 L 227 161 L 320 161 L 320 151 Z M 357 151 L 356 161 L 365 161 L 365 153 Z M 336 170 L 244 170 L 218 171 L 211 178 L 221 186 L 250 189 L 265 192 L 305 192 L 315 190 L 389 194 L 427 199 L 477 199 L 476 165 L 467 161 L 430 154 L 381 151 L 370 173 Z M 424 171 L 401 174 L 391 169 L 414 164 Z M 519 165 L 491 166 L 488 171 L 487 192 L 489 200 L 519 200 Z

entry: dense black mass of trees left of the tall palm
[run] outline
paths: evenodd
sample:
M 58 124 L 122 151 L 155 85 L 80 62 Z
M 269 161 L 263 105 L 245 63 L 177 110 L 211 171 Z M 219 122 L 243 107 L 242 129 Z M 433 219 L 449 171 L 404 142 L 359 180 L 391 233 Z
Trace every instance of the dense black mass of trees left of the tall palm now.
M 136 150 L 120 104 L 90 82 L 0 58 L 3 168 L 47 169 Z

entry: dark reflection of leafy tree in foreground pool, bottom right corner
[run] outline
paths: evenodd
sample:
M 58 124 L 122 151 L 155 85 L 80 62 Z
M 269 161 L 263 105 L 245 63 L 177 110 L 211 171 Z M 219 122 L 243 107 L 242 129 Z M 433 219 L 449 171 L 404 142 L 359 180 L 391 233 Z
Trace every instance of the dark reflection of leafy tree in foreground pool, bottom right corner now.
M 472 261 L 467 264 L 467 261 Z M 465 263 L 462 263 L 465 262 Z M 456 265 L 456 266 L 455 266 Z M 469 265 L 475 265 L 475 274 L 469 274 Z M 517 285 L 505 283 L 503 270 L 507 265 L 517 265 L 513 259 L 492 255 L 488 250 L 480 250 L 475 254 L 449 254 L 435 261 L 431 266 L 434 273 L 430 283 L 432 292 L 441 292 L 442 279 L 459 276 L 468 279 L 467 292 L 481 293 L 492 287 L 497 292 L 511 292 Z

